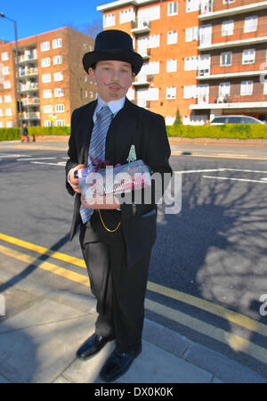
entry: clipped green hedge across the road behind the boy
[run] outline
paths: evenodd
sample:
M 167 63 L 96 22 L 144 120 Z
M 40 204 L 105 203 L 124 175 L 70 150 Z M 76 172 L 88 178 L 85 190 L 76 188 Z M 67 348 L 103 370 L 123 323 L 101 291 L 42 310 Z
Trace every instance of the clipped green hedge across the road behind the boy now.
M 224 124 L 219 126 L 167 126 L 168 136 L 188 138 L 267 139 L 267 124 Z M 70 127 L 28 127 L 28 135 L 69 135 Z M 0 141 L 20 139 L 20 128 L 0 128 Z

